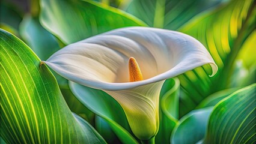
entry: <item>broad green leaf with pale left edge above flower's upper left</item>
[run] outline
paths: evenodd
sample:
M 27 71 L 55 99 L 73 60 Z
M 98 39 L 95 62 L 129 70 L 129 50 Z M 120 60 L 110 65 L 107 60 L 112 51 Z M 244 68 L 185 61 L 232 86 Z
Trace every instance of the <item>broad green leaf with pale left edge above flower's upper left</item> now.
M 145 26 L 130 14 L 93 1 L 41 0 L 40 4 L 40 22 L 66 44 L 111 29 Z

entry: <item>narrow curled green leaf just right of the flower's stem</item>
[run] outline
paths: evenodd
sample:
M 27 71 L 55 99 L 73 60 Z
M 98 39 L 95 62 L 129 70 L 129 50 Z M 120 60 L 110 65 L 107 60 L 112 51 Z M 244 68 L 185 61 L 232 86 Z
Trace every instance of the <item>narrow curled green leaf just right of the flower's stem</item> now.
M 160 92 L 159 131 L 156 143 L 169 143 L 171 132 L 178 122 L 180 81 L 177 78 L 165 80 Z

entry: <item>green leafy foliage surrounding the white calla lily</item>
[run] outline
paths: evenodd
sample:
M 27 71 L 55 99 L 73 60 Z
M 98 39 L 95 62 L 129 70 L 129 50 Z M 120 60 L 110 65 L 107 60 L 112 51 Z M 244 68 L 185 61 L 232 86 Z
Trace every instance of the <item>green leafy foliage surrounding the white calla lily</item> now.
M 1 30 L 1 142 L 139 143 L 117 101 L 40 59 L 111 29 L 152 26 L 197 38 L 219 67 L 214 77 L 204 65 L 166 80 L 156 143 L 254 143 L 255 3 L 1 1 L 0 28 L 11 33 Z

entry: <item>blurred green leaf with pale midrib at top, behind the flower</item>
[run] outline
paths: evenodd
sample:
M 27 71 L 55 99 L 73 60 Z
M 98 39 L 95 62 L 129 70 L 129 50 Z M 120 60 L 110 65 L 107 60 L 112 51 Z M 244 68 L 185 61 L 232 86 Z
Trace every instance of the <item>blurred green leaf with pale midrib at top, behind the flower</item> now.
M 198 13 L 215 7 L 221 2 L 222 0 L 132 0 L 126 11 L 149 26 L 178 29 Z

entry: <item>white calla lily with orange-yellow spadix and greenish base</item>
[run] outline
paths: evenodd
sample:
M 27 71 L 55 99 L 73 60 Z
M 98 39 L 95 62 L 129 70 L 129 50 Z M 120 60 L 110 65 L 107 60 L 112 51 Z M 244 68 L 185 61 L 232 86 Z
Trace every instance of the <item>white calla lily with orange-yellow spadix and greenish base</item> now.
M 151 139 L 158 131 L 159 94 L 165 79 L 204 64 L 211 65 L 212 76 L 218 70 L 195 38 L 145 27 L 115 29 L 87 38 L 44 62 L 66 79 L 102 89 L 115 98 L 141 140 Z

